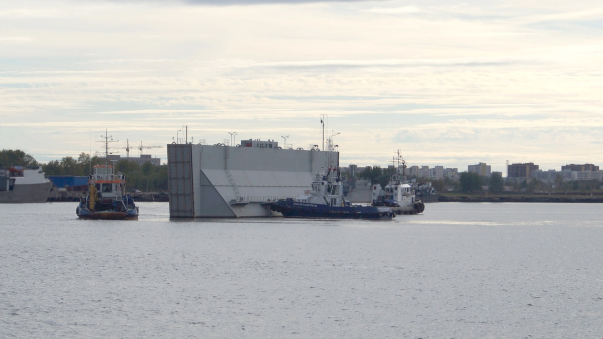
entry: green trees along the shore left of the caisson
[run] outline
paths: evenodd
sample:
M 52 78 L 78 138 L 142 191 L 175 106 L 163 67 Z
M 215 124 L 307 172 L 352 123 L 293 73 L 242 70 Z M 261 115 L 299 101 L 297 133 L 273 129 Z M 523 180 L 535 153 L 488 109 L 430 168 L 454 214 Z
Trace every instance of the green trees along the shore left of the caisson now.
M 104 158 L 80 153 L 77 157 L 66 156 L 60 160 L 39 163 L 30 154 L 21 150 L 0 151 L 0 167 L 36 166 L 42 165 L 46 176 L 88 176 L 92 174 L 92 166 L 104 163 Z M 126 189 L 139 189 L 143 192 L 168 191 L 168 166 L 155 166 L 150 162 L 139 165 L 129 160 L 119 160 L 115 163 L 115 173 L 121 172 L 126 176 Z

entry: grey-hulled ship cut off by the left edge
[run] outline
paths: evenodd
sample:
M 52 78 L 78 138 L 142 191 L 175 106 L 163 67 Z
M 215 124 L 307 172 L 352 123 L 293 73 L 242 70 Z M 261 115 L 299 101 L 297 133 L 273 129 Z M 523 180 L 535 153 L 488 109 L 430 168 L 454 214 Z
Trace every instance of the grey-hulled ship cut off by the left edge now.
M 0 203 L 45 203 L 51 186 L 40 166 L 0 168 Z

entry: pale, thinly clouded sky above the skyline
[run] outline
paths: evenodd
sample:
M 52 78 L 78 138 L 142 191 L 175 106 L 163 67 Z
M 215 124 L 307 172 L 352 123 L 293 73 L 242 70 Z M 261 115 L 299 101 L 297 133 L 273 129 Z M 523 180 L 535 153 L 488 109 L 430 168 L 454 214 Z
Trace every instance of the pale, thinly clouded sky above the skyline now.
M 602 103 L 597 1 L 0 0 L 0 148 L 40 162 L 325 115 L 342 166 L 603 166 Z

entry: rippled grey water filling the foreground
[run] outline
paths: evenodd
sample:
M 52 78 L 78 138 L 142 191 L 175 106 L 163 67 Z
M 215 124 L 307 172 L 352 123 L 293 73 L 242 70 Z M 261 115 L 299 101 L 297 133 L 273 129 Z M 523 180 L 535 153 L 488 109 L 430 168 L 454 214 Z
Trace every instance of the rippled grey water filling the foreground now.
M 0 338 L 603 338 L 603 204 L 84 221 L 0 204 Z

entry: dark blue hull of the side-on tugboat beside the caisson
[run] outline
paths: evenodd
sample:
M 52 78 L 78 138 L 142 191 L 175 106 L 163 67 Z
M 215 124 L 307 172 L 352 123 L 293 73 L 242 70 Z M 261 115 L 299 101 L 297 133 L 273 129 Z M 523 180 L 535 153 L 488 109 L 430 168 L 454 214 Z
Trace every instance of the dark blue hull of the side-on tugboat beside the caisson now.
M 285 218 L 391 220 L 395 217 L 395 214 L 388 207 L 327 206 L 292 200 L 279 200 L 271 203 L 270 209 L 282 214 Z

